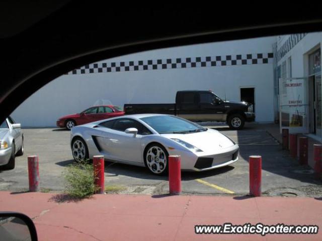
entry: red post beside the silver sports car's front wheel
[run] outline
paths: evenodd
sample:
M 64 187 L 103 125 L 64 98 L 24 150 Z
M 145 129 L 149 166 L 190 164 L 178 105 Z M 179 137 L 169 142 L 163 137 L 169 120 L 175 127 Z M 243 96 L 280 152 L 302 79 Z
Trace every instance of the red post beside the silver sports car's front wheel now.
M 169 191 L 171 195 L 181 193 L 181 157 L 169 156 Z

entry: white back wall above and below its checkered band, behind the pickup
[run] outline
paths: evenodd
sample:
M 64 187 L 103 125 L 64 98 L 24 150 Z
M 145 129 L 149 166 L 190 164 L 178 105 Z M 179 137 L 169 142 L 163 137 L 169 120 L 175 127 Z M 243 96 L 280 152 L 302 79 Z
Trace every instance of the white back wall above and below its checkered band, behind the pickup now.
M 267 37 L 182 46 L 115 57 L 102 63 L 269 53 L 275 41 L 275 37 Z M 256 121 L 273 122 L 271 63 L 63 75 L 29 97 L 12 116 L 23 127 L 54 127 L 58 117 L 94 104 L 173 103 L 178 90 L 188 89 L 212 89 L 227 100 L 240 100 L 240 87 L 255 87 Z

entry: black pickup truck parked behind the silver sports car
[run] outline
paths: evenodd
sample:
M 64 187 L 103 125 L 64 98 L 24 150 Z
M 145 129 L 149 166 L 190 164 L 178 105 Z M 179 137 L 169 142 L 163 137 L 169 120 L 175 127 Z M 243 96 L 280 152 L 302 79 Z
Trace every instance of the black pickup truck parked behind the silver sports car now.
M 245 122 L 255 121 L 253 105 L 220 99 L 212 91 L 178 91 L 174 104 L 125 104 L 125 114 L 173 114 L 192 122 L 226 122 L 240 130 Z

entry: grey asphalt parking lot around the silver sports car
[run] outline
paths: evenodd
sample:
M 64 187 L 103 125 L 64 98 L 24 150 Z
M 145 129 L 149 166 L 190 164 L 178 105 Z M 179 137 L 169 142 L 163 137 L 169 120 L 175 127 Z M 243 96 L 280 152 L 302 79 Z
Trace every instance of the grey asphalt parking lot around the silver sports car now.
M 183 194 L 246 195 L 249 193 L 250 155 L 261 155 L 262 192 L 268 196 L 322 195 L 321 182 L 314 179 L 308 167 L 299 166 L 287 151 L 261 127 L 246 126 L 231 131 L 215 126 L 240 147 L 239 160 L 232 165 L 205 171 L 183 172 Z M 14 170 L 0 172 L 0 190 L 28 190 L 27 156 L 38 155 L 40 187 L 43 192 L 60 192 L 64 183 L 62 171 L 73 162 L 69 131 L 64 129 L 24 129 L 25 154 L 16 158 Z M 167 176 L 155 176 L 144 167 L 105 162 L 105 183 L 111 192 L 120 194 L 165 194 L 169 191 Z

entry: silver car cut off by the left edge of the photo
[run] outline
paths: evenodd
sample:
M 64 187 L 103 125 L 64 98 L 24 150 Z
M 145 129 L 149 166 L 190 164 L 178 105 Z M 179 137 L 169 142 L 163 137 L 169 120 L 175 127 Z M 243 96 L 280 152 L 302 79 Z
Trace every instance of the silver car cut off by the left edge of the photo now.
M 0 170 L 15 168 L 15 157 L 24 154 L 21 125 L 10 116 L 0 126 Z

